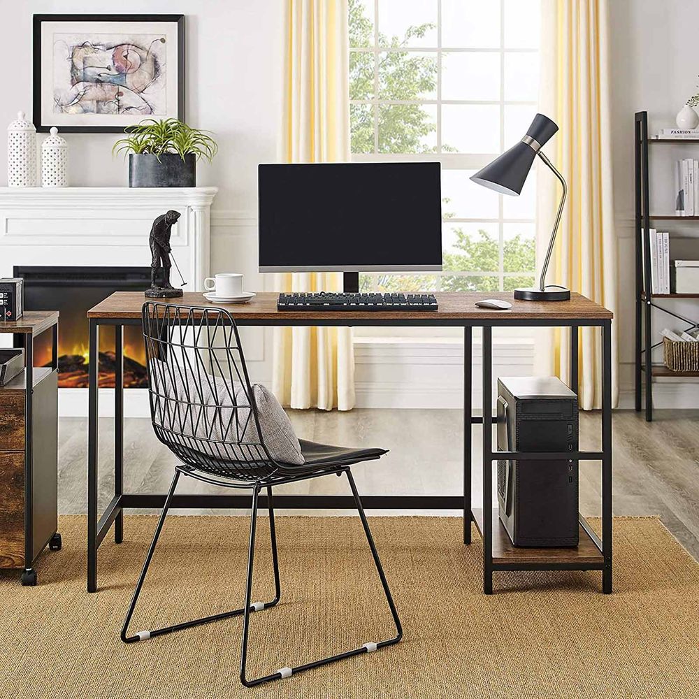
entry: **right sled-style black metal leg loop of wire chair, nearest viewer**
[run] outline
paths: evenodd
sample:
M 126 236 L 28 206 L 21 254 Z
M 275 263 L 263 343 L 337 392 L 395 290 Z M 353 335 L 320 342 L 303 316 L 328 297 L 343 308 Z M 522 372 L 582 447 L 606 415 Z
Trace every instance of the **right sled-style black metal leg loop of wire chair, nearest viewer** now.
M 374 563 L 376 565 L 376 570 L 381 579 L 381 584 L 386 595 L 386 599 L 389 603 L 391 609 L 391 615 L 394 619 L 394 624 L 396 624 L 396 635 L 393 638 L 385 641 L 379 642 L 368 642 L 363 644 L 361 648 L 355 648 L 351 651 L 345 651 L 329 658 L 323 658 L 322 660 L 312 661 L 311 663 L 305 663 L 305 665 L 298 665 L 296 668 L 280 668 L 277 672 L 272 675 L 266 675 L 265 677 L 259 677 L 257 679 L 247 679 L 245 677 L 245 661 L 247 658 L 247 636 L 248 636 L 248 624 L 250 621 L 250 613 L 248 612 L 250 608 L 250 594 L 252 589 L 252 564 L 254 559 L 254 540 L 255 540 L 255 519 L 257 517 L 257 491 L 253 497 L 253 513 L 252 520 L 250 521 L 250 551 L 247 559 L 247 590 L 245 593 L 245 621 L 243 622 L 243 648 L 240 653 L 240 682 L 246 687 L 254 687 L 262 682 L 269 682 L 273 679 L 283 679 L 284 677 L 291 677 L 298 672 L 303 670 L 310 670 L 312 668 L 318 668 L 320 665 L 328 665 L 329 663 L 334 663 L 338 660 L 343 660 L 344 658 L 351 658 L 362 653 L 371 653 L 383 648 L 384 646 L 390 646 L 394 643 L 398 643 L 403 637 L 403 628 L 401 627 L 401 621 L 398 619 L 398 612 L 396 612 L 396 606 L 394 605 L 393 598 L 391 597 L 391 591 L 389 590 L 388 583 L 386 582 L 386 577 L 384 575 L 384 570 L 381 566 L 381 561 L 379 559 L 379 554 L 376 551 L 374 545 L 374 540 L 371 537 L 371 532 L 369 531 L 369 525 L 366 521 L 366 516 L 364 514 L 364 509 L 361 505 L 361 500 L 359 499 L 359 493 L 357 493 L 356 486 L 354 485 L 354 479 L 352 478 L 352 473 L 350 473 L 349 468 L 343 469 L 347 473 L 347 480 L 349 481 L 349 487 L 352 489 L 352 495 L 354 496 L 354 502 L 356 503 L 356 509 L 359 512 L 359 517 L 361 519 L 361 524 L 364 528 L 364 533 L 366 534 L 366 539 L 369 543 L 371 549 L 371 555 L 373 556 Z M 339 474 L 338 474 L 339 475 Z

